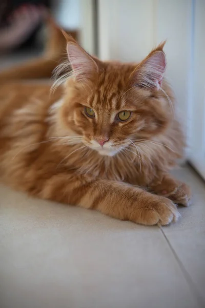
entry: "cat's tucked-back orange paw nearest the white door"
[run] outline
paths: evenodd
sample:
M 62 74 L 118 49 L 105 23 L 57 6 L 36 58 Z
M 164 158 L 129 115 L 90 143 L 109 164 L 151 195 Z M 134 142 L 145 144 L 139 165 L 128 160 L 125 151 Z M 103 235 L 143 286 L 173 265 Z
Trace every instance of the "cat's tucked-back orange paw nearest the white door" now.
M 180 183 L 179 186 L 176 186 L 170 192 L 168 192 L 167 190 L 162 190 L 161 195 L 166 196 L 177 204 L 181 204 L 184 206 L 191 205 L 191 189 L 185 183 Z

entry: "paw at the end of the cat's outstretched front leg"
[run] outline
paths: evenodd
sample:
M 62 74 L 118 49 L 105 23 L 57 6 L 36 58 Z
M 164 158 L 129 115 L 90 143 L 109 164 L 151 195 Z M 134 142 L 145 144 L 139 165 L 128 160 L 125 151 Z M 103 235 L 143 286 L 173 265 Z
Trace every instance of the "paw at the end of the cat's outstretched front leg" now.
M 151 195 L 151 194 L 150 194 Z M 180 217 L 176 205 L 169 199 L 161 196 L 150 196 L 150 200 L 139 209 L 138 223 L 145 225 L 168 225 L 176 222 Z

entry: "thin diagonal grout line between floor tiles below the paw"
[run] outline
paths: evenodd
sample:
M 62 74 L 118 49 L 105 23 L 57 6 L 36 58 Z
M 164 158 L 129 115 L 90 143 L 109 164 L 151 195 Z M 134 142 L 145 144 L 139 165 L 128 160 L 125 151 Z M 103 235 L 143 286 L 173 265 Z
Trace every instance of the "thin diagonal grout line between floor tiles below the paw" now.
M 188 285 L 190 286 L 192 292 L 194 293 L 194 296 L 196 297 L 197 301 L 198 301 L 198 304 L 201 308 L 205 307 L 205 302 L 203 300 L 203 298 L 201 297 L 201 294 L 198 292 L 196 286 L 195 286 L 195 283 L 193 282 L 192 280 L 192 277 L 190 276 L 190 274 L 187 272 L 187 269 L 185 268 L 185 266 L 183 265 L 183 263 L 181 262 L 181 260 L 179 259 L 179 257 L 177 256 L 174 248 L 172 247 L 170 241 L 168 240 L 165 232 L 163 232 L 163 229 L 161 227 L 160 224 L 158 224 L 158 227 L 159 229 L 161 230 L 161 233 L 163 235 L 163 237 L 165 238 L 167 244 L 169 245 L 171 251 L 172 251 L 172 254 L 174 255 L 174 258 L 176 259 L 181 271 L 182 271 L 182 274 L 183 276 L 185 277 Z

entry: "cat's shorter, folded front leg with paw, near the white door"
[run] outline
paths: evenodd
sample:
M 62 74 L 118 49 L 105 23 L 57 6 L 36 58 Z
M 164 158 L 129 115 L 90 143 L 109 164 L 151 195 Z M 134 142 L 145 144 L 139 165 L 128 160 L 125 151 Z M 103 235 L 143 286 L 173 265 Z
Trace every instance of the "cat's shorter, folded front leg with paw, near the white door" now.
M 169 174 L 160 181 L 153 182 L 150 188 L 157 194 L 171 199 L 173 202 L 189 206 L 191 204 L 190 187 Z

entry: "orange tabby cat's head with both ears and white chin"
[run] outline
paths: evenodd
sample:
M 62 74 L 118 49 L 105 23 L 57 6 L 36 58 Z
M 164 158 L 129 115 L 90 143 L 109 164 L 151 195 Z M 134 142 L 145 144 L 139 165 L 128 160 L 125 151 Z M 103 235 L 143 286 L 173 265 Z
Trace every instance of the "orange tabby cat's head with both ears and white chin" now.
M 163 45 L 139 64 L 121 64 L 99 61 L 67 36 L 72 73 L 65 82 L 64 125 L 106 156 L 166 129 L 170 107 L 161 90 Z

